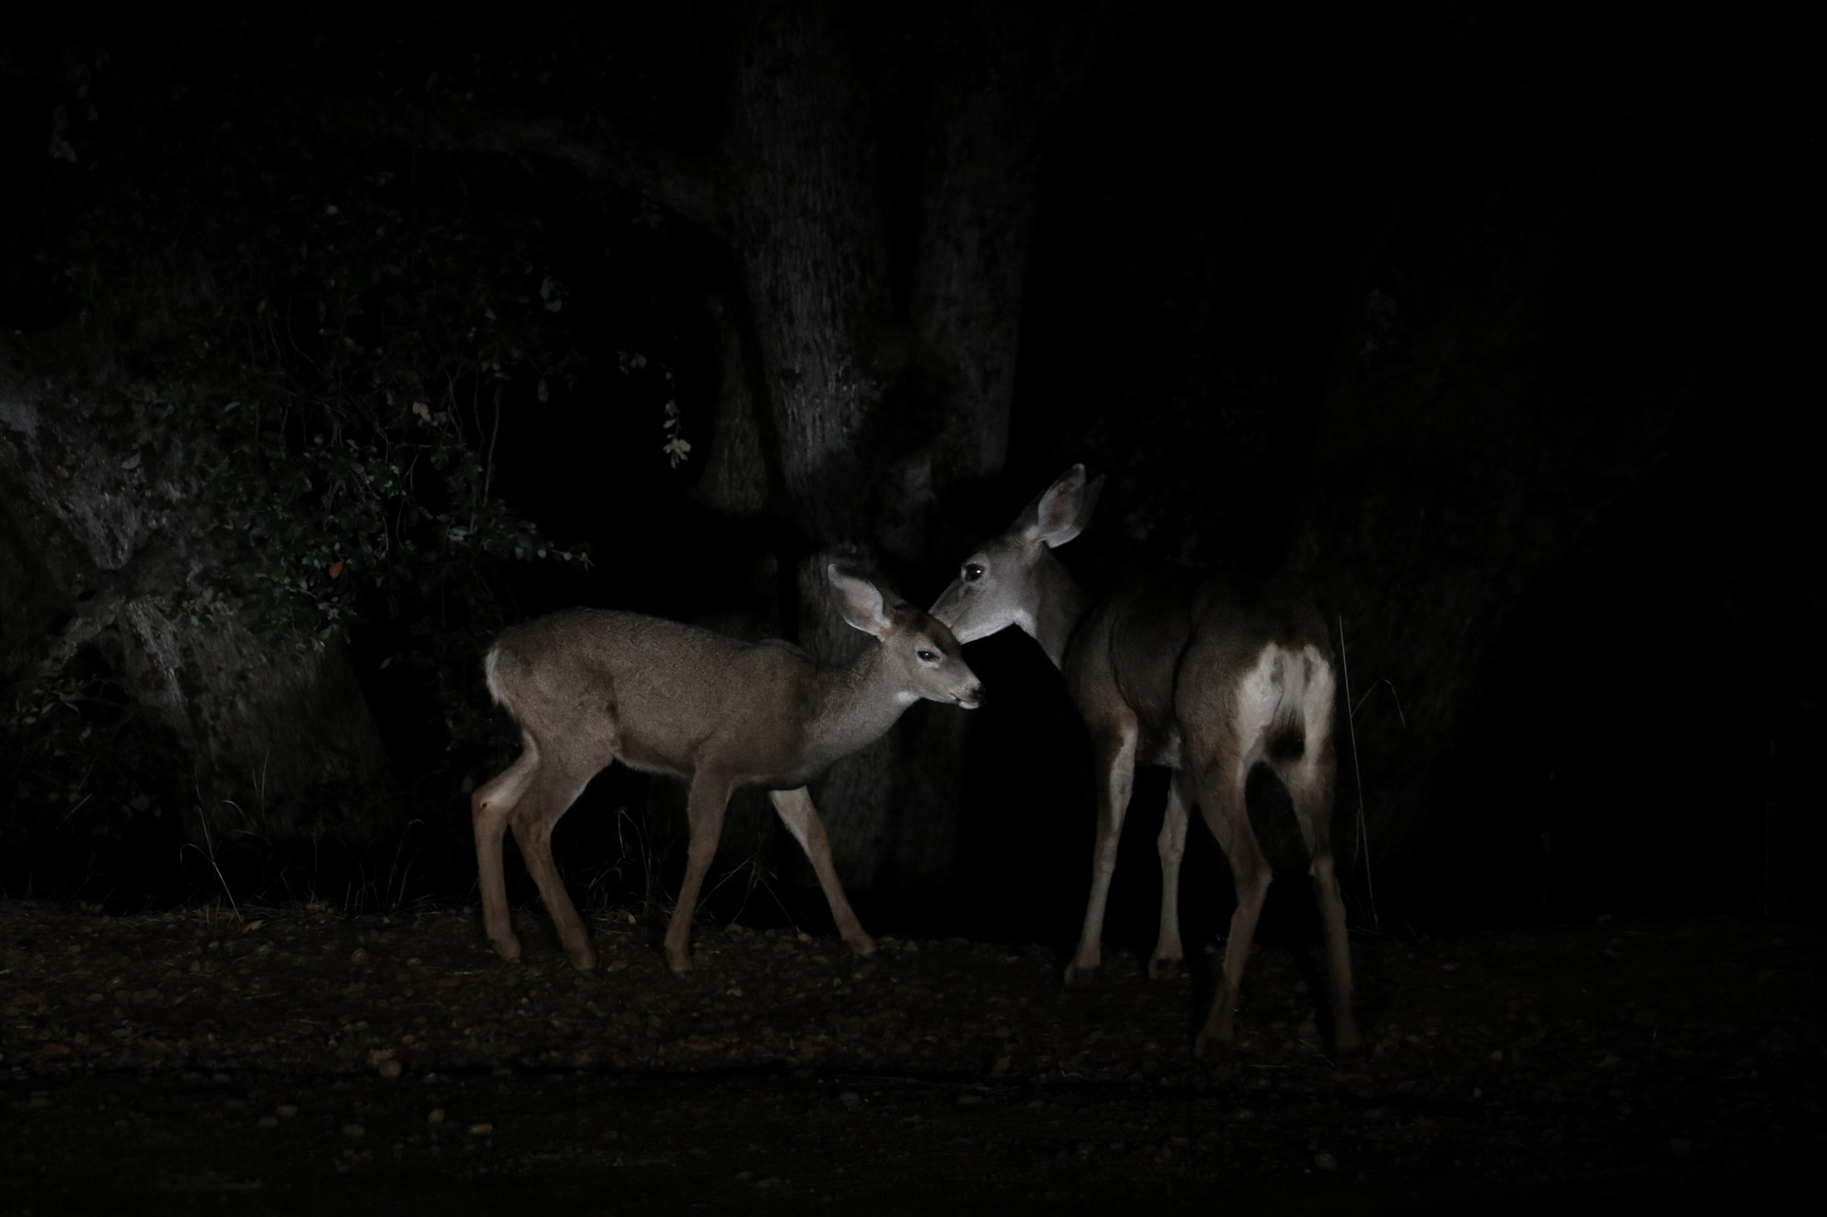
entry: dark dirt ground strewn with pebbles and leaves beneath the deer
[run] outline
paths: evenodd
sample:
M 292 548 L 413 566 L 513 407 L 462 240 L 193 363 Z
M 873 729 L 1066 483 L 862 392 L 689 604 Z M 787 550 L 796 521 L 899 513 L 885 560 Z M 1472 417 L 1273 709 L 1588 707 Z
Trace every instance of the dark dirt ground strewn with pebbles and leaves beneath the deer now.
M 475 910 L 108 917 L 0 901 L 0 1213 L 1538 1212 L 1812 1171 L 1823 937 L 1732 919 L 1356 943 L 1367 1049 L 1259 948 L 1195 1064 L 1204 967 L 1043 947 L 594 923 L 577 976 Z

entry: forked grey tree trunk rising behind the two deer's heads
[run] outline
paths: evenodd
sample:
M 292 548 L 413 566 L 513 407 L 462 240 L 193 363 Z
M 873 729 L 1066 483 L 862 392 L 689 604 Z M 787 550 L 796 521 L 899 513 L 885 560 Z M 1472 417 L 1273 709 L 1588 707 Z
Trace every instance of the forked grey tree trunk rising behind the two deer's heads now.
M 778 629 L 826 661 L 866 643 L 837 614 L 826 565 L 937 581 L 956 557 L 941 495 L 1007 453 L 1047 97 L 1021 58 L 1043 33 L 1032 26 L 1018 53 L 988 49 L 1009 31 L 992 42 L 965 20 L 935 35 L 917 203 L 903 210 L 882 128 L 906 99 L 866 88 L 839 9 L 769 5 L 740 42 L 723 153 L 745 307 L 713 305 L 723 389 L 698 497 L 789 523 Z M 904 274 L 897 249 L 912 249 Z M 965 725 L 915 705 L 815 789 L 848 886 L 946 883 Z

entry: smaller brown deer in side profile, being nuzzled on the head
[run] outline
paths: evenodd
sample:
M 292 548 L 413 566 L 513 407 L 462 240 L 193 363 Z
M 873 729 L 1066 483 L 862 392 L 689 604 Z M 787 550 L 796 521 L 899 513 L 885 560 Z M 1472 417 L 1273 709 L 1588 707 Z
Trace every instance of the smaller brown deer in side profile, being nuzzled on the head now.
M 844 621 L 875 640 L 844 665 L 778 640 L 749 643 L 605 608 L 554 612 L 495 640 L 482 661 L 488 693 L 521 729 L 521 755 L 470 800 L 482 925 L 495 954 L 521 958 L 501 868 L 512 826 L 572 967 L 596 967 L 552 862 L 552 828 L 614 760 L 689 782 L 685 883 L 665 936 L 674 972 L 691 970 L 692 912 L 738 786 L 769 791 L 811 861 L 839 936 L 859 956 L 873 954 L 806 784 L 882 736 L 914 702 L 976 709 L 983 685 L 950 629 L 835 563 L 826 576 Z

